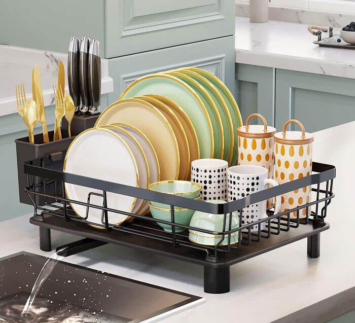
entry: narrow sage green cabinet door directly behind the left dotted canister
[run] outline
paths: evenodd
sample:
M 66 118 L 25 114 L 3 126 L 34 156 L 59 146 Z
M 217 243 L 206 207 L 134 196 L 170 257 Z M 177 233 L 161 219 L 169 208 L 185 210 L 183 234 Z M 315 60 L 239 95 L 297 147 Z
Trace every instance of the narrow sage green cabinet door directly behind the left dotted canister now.
M 248 115 L 263 115 L 270 126 L 274 125 L 275 69 L 270 67 L 235 64 L 236 101 L 245 123 Z M 253 118 L 251 124 L 260 123 Z

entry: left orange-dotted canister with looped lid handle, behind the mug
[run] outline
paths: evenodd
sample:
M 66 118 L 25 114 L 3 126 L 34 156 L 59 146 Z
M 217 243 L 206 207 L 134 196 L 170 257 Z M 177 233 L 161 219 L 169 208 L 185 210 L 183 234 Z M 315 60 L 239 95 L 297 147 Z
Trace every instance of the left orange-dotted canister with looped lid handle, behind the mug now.
M 249 125 L 250 119 L 258 117 L 263 125 Z M 267 125 L 265 118 L 253 113 L 246 118 L 245 126 L 237 129 L 238 133 L 238 165 L 263 166 L 268 170 L 268 177 L 274 175 L 274 134 L 276 129 Z M 266 207 L 270 209 L 273 199 L 269 199 Z

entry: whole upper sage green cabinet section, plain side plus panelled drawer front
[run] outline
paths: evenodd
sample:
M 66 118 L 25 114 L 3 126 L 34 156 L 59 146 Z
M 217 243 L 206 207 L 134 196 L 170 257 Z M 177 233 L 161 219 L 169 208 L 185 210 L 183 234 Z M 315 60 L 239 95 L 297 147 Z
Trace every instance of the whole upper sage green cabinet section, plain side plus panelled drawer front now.
M 67 52 L 97 39 L 113 58 L 234 34 L 232 0 L 11 0 L 1 2 L 0 44 Z

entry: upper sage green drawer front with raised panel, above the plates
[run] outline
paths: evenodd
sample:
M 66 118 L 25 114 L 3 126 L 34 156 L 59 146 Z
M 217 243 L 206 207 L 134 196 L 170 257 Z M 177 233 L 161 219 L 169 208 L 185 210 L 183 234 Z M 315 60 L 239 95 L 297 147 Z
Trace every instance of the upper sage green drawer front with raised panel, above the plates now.
M 234 34 L 231 0 L 105 0 L 105 57 Z

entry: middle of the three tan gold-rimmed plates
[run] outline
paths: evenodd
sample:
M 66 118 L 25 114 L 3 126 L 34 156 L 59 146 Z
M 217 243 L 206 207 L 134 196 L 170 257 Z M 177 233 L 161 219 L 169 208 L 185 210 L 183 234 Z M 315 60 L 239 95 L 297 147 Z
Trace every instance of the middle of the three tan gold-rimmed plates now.
M 180 120 L 176 117 L 176 115 L 171 111 L 171 109 L 159 101 L 156 98 L 150 96 L 137 96 L 135 97 L 140 100 L 147 101 L 153 104 L 168 120 L 170 123 L 172 130 L 176 136 L 177 145 L 179 145 L 179 155 L 180 155 L 180 171 L 178 180 L 186 180 L 189 169 L 190 169 L 190 150 L 189 150 L 189 142 L 187 140 L 186 132 L 181 124 Z

